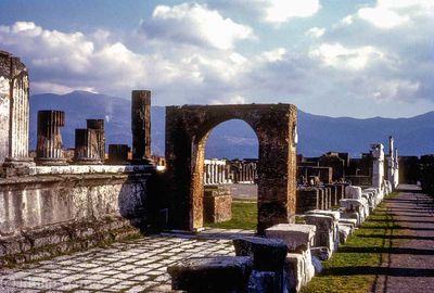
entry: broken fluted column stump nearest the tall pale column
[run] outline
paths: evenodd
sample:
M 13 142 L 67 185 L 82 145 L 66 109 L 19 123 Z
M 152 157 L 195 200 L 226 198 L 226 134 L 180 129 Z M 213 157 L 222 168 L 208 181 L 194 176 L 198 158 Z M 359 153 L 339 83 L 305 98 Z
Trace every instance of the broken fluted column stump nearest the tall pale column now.
M 38 112 L 38 143 L 35 161 L 39 165 L 66 165 L 63 154 L 61 127 L 65 126 L 65 112 Z

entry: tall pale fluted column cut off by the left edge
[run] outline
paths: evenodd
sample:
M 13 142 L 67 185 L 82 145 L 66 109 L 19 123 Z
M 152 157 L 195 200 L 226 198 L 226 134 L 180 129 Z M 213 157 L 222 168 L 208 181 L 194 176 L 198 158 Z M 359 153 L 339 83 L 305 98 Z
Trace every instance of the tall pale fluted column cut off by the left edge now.
M 0 164 L 31 165 L 28 157 L 29 81 L 18 58 L 0 51 Z

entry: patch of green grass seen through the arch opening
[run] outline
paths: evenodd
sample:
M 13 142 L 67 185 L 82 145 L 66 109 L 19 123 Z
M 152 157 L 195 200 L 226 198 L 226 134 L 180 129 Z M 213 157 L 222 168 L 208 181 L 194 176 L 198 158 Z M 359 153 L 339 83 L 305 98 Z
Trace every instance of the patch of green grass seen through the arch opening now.
M 233 201 L 232 219 L 224 222 L 206 222 L 205 226 L 221 229 L 247 229 L 256 230 L 257 225 L 257 202 L 256 201 Z

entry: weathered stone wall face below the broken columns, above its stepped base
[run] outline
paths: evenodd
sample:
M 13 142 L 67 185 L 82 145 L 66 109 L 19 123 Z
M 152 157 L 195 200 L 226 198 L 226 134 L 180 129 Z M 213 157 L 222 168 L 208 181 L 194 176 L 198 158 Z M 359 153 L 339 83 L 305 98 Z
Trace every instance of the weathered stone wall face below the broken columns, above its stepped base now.
M 145 217 L 149 174 L 0 179 L 0 235 L 108 215 Z

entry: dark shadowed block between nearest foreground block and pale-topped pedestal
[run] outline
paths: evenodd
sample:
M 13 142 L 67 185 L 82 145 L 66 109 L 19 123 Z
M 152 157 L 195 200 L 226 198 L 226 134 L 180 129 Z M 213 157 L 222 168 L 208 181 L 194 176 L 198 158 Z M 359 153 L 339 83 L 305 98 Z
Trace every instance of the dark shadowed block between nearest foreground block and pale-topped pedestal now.
M 238 256 L 252 256 L 255 270 L 280 271 L 288 254 L 285 242 L 280 239 L 245 237 L 233 240 Z

